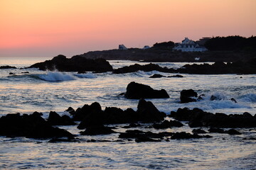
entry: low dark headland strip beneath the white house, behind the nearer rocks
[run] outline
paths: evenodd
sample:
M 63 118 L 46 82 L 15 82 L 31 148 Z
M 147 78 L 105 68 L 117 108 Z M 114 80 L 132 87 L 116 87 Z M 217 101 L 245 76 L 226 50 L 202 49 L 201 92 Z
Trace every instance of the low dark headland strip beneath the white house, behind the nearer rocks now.
M 255 51 L 207 51 L 178 52 L 171 50 L 137 49 L 103 50 L 86 52 L 87 59 L 103 58 L 105 60 L 132 60 L 140 62 L 237 62 L 256 57 Z

